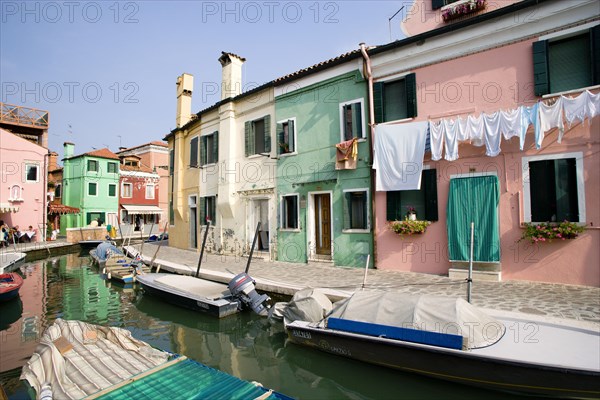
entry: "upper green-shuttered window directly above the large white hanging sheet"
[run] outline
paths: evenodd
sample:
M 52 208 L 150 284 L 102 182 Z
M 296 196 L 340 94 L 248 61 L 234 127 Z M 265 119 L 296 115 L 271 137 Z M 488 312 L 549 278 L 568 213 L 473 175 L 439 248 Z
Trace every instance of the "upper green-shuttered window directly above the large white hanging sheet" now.
M 375 122 L 389 122 L 417 116 L 417 81 L 415 74 L 373 85 Z

